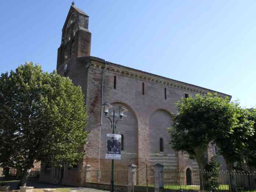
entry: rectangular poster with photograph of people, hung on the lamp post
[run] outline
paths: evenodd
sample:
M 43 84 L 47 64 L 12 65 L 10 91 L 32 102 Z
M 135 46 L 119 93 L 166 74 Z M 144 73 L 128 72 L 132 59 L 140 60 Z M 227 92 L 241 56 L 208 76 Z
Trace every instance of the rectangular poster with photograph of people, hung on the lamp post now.
M 121 135 L 107 134 L 106 159 L 121 159 Z

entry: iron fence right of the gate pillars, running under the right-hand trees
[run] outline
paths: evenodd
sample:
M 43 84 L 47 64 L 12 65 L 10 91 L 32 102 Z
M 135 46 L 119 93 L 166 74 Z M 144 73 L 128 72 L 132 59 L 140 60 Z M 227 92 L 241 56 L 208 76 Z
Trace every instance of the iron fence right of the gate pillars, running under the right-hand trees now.
M 255 191 L 256 172 L 249 171 L 162 171 L 166 189 L 186 189 L 203 191 Z

